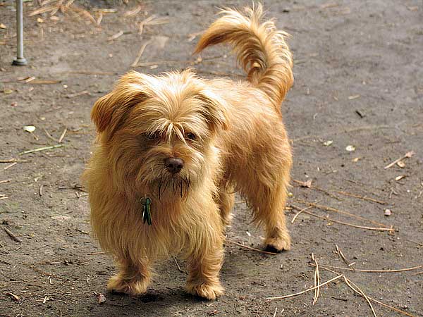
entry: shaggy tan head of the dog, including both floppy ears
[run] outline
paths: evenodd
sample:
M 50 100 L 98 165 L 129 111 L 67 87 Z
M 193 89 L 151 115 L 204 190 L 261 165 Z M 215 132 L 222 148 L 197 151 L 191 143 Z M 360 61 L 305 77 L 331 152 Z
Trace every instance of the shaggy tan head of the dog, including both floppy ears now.
M 213 140 L 228 126 L 225 109 L 190 70 L 132 72 L 94 104 L 92 120 L 118 187 L 184 197 L 205 171 L 216 168 Z

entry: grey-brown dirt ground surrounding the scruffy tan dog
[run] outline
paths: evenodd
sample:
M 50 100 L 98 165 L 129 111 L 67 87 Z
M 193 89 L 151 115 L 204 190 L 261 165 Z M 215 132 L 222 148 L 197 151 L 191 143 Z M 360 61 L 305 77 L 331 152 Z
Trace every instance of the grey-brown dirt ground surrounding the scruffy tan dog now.
M 73 4 L 97 22 L 98 8 L 115 8 L 102 11 L 99 26 L 77 8 L 28 16 L 39 5 L 25 1 L 26 67 L 11 66 L 14 1 L 0 1 L 0 316 L 372 316 L 366 300 L 341 279 L 322 286 L 314 305 L 313 292 L 266 299 L 312 287 L 312 253 L 321 282 L 336 276 L 324 265 L 420 266 L 332 270 L 367 296 L 423 316 L 421 1 L 264 1 L 268 16 L 292 35 L 295 54 L 295 85 L 283 104 L 295 162 L 288 220 L 310 203 L 333 209 L 302 212 L 290 223 L 292 250 L 271 255 L 233 243 L 262 248 L 262 230 L 238 199 L 221 270 L 226 294 L 215 302 L 185 294 L 184 263 L 178 261 L 178 270 L 174 259 L 157 267 L 143 297 L 106 292 L 114 266 L 90 237 L 80 174 L 95 135 L 90 108 L 130 70 L 140 47 L 149 41 L 144 64 L 135 67 L 140 72 L 193 66 L 205 77 L 236 79 L 242 72 L 228 48 L 209 49 L 202 61 L 191 52 L 217 6 L 250 1 L 141 2 L 132 15 L 125 13 L 137 8 L 133 2 Z M 25 132 L 25 125 L 35 132 Z M 63 147 L 20 155 L 56 144 Z M 409 151 L 415 154 L 384 169 Z M 97 294 L 104 294 L 104 304 Z M 398 314 L 373 305 L 377 316 Z

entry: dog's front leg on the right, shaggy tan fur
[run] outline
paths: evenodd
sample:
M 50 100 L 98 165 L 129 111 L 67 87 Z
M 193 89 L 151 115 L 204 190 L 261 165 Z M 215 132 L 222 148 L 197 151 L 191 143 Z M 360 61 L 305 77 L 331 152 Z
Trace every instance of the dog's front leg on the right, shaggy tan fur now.
M 193 295 L 216 299 L 223 294 L 219 271 L 223 262 L 223 238 L 214 237 L 214 242 L 198 243 L 188 258 L 188 280 L 186 290 Z

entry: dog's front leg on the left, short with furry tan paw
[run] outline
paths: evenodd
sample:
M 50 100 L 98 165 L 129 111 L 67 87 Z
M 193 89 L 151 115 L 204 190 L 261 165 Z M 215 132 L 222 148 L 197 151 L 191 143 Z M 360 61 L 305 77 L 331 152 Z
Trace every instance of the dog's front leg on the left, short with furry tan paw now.
M 151 282 L 149 262 L 130 259 L 119 259 L 117 262 L 119 272 L 110 278 L 107 289 L 111 292 L 125 293 L 131 296 L 145 293 Z

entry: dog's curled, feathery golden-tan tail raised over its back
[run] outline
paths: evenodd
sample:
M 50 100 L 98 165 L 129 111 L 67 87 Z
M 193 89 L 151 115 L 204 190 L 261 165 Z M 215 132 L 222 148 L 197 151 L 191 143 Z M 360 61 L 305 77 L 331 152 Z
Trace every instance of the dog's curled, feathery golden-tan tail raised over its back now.
M 273 20 L 260 23 L 261 4 L 245 11 L 246 15 L 233 9 L 222 10 L 223 16 L 204 32 L 195 53 L 209 45 L 232 44 L 238 63 L 248 74 L 247 79 L 279 108 L 293 85 L 293 56 L 285 41 L 288 34 L 276 30 Z

